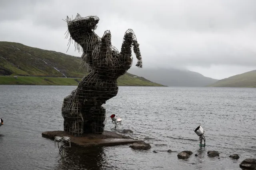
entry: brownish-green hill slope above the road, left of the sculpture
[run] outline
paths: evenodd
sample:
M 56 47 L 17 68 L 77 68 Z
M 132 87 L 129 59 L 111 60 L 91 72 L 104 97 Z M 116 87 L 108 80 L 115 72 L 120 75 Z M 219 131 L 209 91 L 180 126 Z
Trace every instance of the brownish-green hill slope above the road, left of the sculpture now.
M 79 61 L 78 57 L 56 51 L 0 42 L 0 74 L 82 77 L 85 72 L 78 70 Z

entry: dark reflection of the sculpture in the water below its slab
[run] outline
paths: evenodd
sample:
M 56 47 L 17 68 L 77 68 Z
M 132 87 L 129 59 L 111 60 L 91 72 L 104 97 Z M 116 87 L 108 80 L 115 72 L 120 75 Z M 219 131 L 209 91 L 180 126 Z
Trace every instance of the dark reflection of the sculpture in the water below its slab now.
M 65 150 L 64 157 L 60 156 L 56 169 L 61 170 L 103 170 L 107 162 L 102 147 L 78 148 L 71 147 Z

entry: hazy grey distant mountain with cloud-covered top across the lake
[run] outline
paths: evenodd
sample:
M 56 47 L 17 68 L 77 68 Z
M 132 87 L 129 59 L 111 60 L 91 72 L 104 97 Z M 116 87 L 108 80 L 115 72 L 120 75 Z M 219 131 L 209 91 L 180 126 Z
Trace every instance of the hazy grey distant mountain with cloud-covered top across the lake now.
M 130 68 L 129 72 L 166 86 L 204 87 L 218 81 L 198 72 L 175 68 Z

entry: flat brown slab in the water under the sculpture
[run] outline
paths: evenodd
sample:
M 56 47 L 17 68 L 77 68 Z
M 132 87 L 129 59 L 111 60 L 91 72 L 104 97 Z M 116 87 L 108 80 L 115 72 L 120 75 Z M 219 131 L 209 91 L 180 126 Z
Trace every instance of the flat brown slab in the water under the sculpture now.
M 70 137 L 71 146 L 78 147 L 92 147 L 92 146 L 101 146 L 101 147 L 110 147 L 116 145 L 126 145 L 136 142 L 142 142 L 140 140 L 132 139 L 128 136 L 119 135 L 114 132 L 104 131 L 104 134 L 90 134 L 84 133 L 81 137 L 73 137 L 70 133 L 66 131 L 46 131 L 42 133 L 42 137 L 46 137 L 54 140 L 54 137 Z

